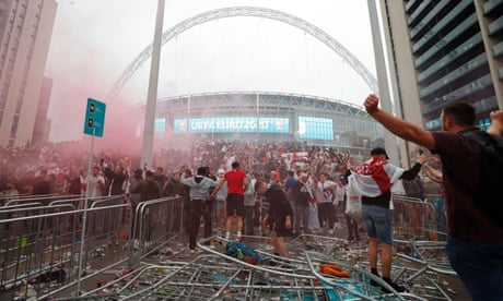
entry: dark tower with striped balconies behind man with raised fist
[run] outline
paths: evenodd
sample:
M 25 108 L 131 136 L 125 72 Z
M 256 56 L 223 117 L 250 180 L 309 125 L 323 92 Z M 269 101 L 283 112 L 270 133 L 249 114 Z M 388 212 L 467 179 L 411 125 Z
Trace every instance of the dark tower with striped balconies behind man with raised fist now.
M 503 1 L 381 0 L 396 113 L 441 128 L 451 103 L 468 100 L 482 129 L 503 109 Z M 402 143 L 401 157 L 414 146 Z

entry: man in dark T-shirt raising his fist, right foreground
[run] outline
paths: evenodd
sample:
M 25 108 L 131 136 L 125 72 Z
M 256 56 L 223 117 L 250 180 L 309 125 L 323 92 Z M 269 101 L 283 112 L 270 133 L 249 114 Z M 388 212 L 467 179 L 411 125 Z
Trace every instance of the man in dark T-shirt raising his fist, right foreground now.
M 503 300 L 503 228 L 489 218 L 479 204 L 503 202 L 502 194 L 481 200 L 482 148 L 464 135 L 479 131 L 476 111 L 469 103 L 449 104 L 441 113 L 442 131 L 422 128 L 379 109 L 378 97 L 370 95 L 364 103 L 369 115 L 397 136 L 428 147 L 442 159 L 445 206 L 447 214 L 447 256 L 467 287 L 472 300 Z M 490 115 L 489 133 L 500 136 L 503 115 Z M 477 133 L 476 133 L 477 134 Z

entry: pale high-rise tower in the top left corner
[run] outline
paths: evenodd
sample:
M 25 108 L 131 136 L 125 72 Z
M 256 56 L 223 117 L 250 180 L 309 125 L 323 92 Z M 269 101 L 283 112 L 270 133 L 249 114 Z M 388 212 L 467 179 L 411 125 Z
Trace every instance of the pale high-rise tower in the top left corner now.
M 0 146 L 31 145 L 45 127 L 36 120 L 56 8 L 55 0 L 0 0 Z

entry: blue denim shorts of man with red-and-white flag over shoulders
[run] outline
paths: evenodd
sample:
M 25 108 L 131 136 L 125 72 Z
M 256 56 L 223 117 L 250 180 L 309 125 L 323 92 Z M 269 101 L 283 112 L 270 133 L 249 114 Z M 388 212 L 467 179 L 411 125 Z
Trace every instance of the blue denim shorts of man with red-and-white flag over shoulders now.
M 376 238 L 381 243 L 393 244 L 391 212 L 388 208 L 363 205 L 362 217 L 369 238 Z

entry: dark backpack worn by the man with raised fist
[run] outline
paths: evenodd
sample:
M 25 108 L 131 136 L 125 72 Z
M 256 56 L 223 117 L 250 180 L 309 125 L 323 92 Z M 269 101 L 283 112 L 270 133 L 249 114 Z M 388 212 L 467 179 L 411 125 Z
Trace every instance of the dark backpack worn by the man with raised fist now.
M 503 228 L 503 140 L 486 132 L 463 133 L 482 148 L 482 186 L 476 193 L 477 205 Z

